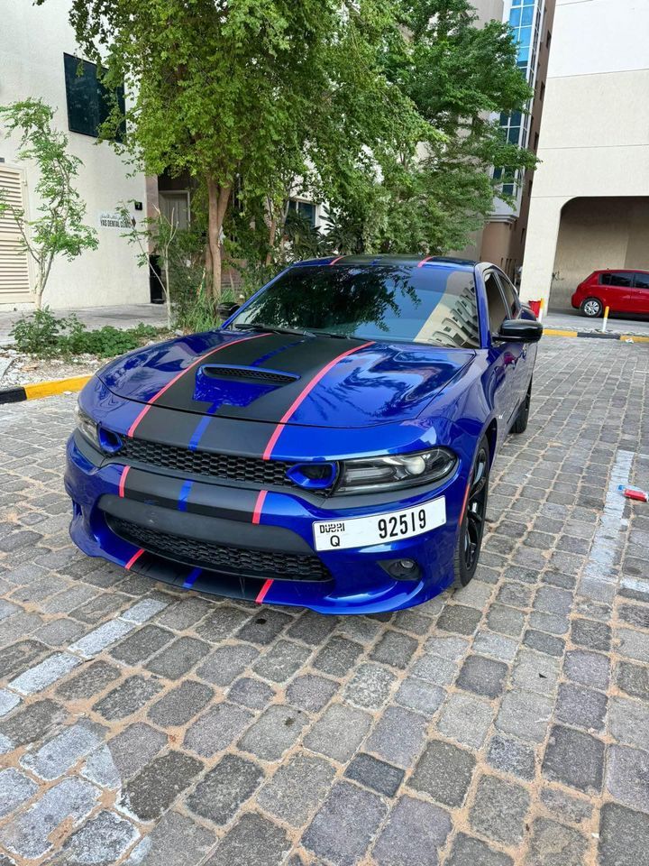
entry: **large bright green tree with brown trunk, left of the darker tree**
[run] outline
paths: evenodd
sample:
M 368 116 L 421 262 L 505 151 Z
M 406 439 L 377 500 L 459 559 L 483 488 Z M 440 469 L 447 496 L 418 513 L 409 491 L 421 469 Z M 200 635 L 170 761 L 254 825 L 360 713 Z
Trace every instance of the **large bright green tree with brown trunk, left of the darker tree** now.
M 233 191 L 264 204 L 263 262 L 295 179 L 342 198 L 410 112 L 381 69 L 401 38 L 389 0 L 72 0 L 70 20 L 108 88 L 126 84 L 142 167 L 205 188 L 215 298 Z

